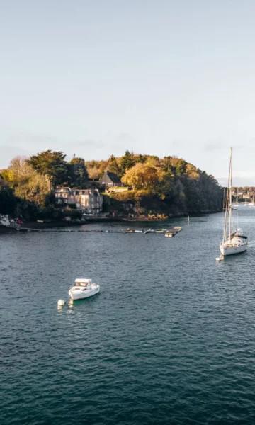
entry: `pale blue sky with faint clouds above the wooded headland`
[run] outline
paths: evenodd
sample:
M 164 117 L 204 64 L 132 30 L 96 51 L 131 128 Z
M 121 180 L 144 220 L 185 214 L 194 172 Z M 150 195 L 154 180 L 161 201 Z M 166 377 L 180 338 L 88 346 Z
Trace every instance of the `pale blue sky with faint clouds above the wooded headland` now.
M 0 0 L 0 169 L 176 155 L 255 186 L 255 2 Z

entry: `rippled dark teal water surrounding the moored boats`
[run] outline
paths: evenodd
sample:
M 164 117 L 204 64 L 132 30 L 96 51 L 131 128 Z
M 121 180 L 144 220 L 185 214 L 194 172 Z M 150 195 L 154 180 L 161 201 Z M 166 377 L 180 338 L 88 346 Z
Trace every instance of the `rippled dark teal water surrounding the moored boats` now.
M 217 263 L 222 215 L 186 223 L 0 235 L 1 425 L 254 424 L 255 246 Z M 79 276 L 101 293 L 58 310 Z

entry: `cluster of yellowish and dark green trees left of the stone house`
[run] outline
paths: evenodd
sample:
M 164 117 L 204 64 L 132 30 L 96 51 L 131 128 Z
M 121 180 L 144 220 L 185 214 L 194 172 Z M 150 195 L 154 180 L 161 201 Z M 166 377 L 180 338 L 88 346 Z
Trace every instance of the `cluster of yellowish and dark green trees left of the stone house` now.
M 52 191 L 57 185 L 85 187 L 89 179 L 85 161 L 66 161 L 63 152 L 47 150 L 30 158 L 16 157 L 0 174 L 0 213 L 35 218 L 55 215 Z

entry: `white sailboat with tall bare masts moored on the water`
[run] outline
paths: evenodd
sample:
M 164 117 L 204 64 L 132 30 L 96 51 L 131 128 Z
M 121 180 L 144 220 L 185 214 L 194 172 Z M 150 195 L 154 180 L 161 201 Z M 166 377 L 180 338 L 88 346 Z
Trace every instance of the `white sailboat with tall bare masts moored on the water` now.
M 225 222 L 223 230 L 223 239 L 220 244 L 220 254 L 226 255 L 239 254 L 246 251 L 248 247 L 248 237 L 244 235 L 241 229 L 234 229 L 232 220 L 232 156 L 233 149 L 230 149 L 229 177 L 226 194 Z

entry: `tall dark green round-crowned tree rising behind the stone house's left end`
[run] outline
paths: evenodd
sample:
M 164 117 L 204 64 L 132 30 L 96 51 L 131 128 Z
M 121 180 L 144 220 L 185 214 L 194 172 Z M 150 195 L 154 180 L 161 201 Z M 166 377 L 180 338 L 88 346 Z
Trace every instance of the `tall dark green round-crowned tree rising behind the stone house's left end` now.
M 33 167 L 35 171 L 46 176 L 50 182 L 50 188 L 57 184 L 64 183 L 67 177 L 67 162 L 65 161 L 66 155 L 63 152 L 47 150 L 40 152 L 40 154 L 33 155 L 28 159 L 28 164 Z

